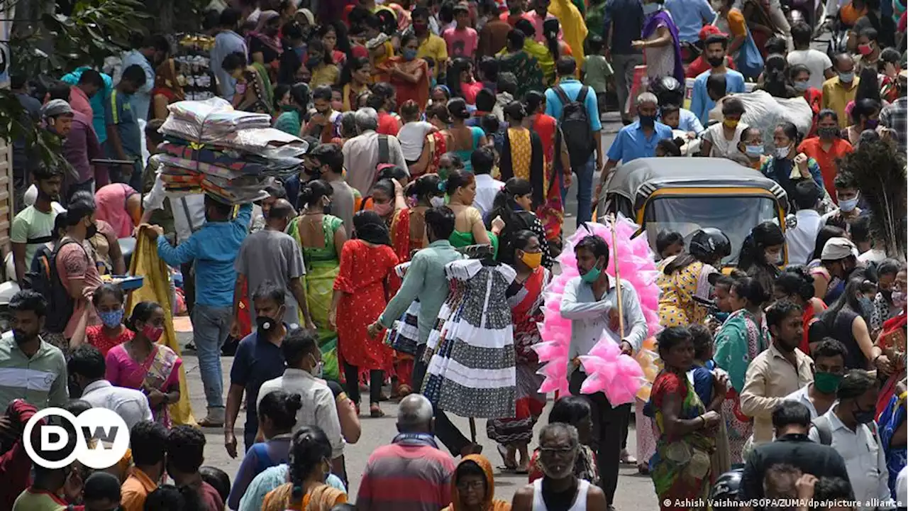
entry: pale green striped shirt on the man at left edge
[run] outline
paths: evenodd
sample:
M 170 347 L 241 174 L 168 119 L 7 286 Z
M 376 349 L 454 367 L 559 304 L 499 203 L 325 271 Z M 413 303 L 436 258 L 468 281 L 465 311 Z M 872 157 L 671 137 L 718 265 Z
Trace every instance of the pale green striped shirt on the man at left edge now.
M 41 341 L 29 358 L 16 346 L 12 332 L 0 336 L 0 410 L 14 399 L 24 399 L 39 410 L 66 404 L 66 360 L 59 348 Z

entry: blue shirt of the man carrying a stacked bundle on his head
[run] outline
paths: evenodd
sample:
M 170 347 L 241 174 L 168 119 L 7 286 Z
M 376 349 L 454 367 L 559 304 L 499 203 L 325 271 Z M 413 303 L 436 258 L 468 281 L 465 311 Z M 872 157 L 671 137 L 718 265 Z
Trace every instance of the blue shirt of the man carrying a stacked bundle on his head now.
M 251 218 L 252 205 L 244 204 L 232 221 L 206 222 L 176 247 L 167 243 L 164 236 L 158 236 L 158 255 L 165 263 L 180 266 L 195 261 L 195 303 L 233 306 L 233 285 L 236 283 L 233 261 L 249 232 Z

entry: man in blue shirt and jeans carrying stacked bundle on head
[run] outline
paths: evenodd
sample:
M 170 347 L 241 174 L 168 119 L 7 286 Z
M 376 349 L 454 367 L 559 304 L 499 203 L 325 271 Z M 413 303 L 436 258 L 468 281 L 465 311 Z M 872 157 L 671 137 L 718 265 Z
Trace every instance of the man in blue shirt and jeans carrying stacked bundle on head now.
M 240 207 L 231 220 L 233 206 L 205 195 L 205 225 L 182 244 L 173 247 L 158 232 L 158 255 L 169 266 L 195 262 L 195 306 L 192 308 L 192 337 L 199 355 L 202 386 L 208 401 L 208 416 L 199 426 L 224 424 L 221 346 L 230 335 L 233 316 L 233 261 L 249 232 L 252 204 Z

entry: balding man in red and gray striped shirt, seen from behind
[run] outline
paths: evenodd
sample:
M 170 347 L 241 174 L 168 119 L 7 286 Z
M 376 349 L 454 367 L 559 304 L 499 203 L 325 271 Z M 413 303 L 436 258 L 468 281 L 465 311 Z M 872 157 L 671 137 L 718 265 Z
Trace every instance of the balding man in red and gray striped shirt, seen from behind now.
M 454 459 L 432 435 L 432 404 L 410 394 L 400 400 L 398 436 L 366 464 L 356 506 L 365 511 L 438 511 L 450 504 Z

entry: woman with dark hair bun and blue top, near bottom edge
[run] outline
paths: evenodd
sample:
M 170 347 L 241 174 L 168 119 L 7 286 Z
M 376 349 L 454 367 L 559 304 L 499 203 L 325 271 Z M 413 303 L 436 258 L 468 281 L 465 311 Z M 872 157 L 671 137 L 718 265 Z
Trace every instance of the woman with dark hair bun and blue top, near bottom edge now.
M 227 506 L 238 509 L 240 499 L 255 476 L 261 474 L 270 466 L 287 463 L 290 458 L 290 448 L 293 427 L 296 426 L 296 413 L 302 408 L 302 398 L 299 394 L 289 394 L 282 390 L 272 390 L 260 396 L 259 403 L 259 431 L 265 441 L 253 444 L 242 457 L 240 469 L 233 479 Z

